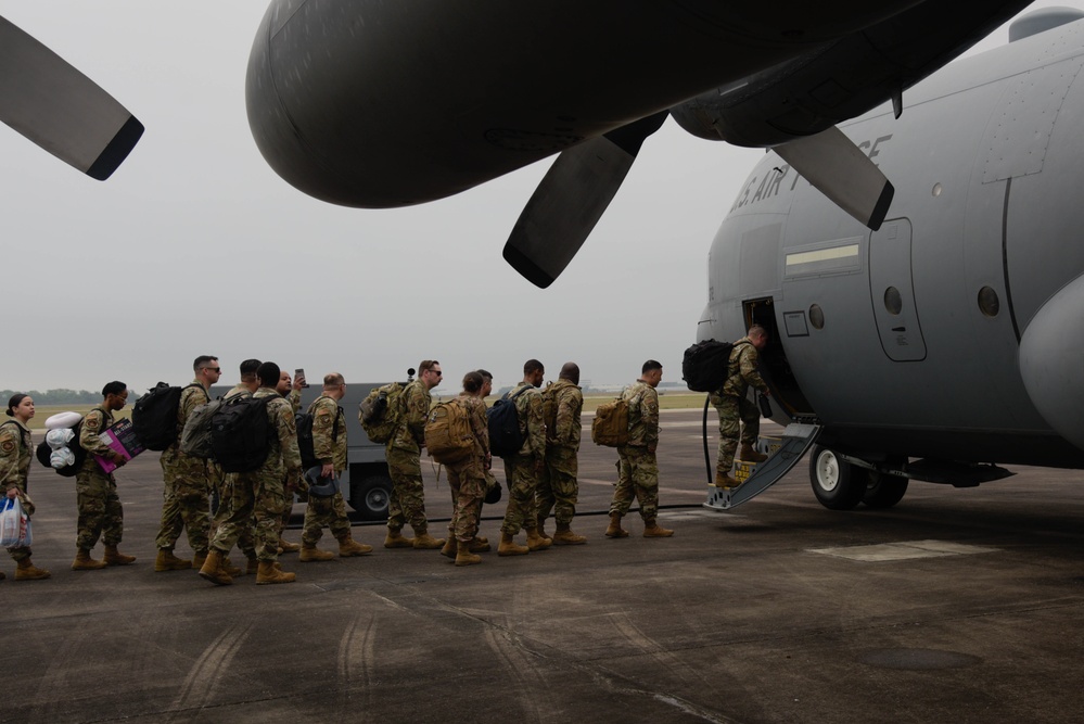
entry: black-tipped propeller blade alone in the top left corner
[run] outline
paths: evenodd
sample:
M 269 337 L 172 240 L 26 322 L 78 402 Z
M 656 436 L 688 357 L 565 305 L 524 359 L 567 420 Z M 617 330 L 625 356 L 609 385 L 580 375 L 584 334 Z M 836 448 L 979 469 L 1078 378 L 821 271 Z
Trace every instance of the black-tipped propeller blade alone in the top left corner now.
M 104 181 L 143 125 L 93 80 L 0 17 L 0 120 Z

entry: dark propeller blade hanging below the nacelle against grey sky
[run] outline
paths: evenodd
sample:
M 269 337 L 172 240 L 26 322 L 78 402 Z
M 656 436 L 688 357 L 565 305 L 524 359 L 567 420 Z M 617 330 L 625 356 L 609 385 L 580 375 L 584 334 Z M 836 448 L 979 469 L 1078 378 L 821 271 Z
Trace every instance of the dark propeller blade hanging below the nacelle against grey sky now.
M 546 289 L 569 266 L 621 188 L 662 111 L 562 151 L 535 189 L 505 244 L 505 261 Z

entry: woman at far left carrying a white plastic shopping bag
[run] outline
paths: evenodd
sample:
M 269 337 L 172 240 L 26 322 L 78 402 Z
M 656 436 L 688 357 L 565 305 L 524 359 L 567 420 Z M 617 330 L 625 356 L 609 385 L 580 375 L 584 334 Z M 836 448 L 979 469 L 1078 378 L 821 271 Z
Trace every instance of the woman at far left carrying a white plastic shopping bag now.
M 13 419 L 0 424 L 0 486 L 9 499 L 18 498 L 23 512 L 29 518 L 34 515 L 34 501 L 26 494 L 26 486 L 30 460 L 34 458 L 34 441 L 27 425 L 34 417 L 34 399 L 29 395 L 12 395 L 5 412 Z M 8 552 L 15 561 L 16 581 L 49 577 L 49 571 L 36 568 L 30 562 L 33 551 L 29 546 L 13 546 L 8 548 Z M 0 571 L 0 580 L 3 577 L 4 574 Z

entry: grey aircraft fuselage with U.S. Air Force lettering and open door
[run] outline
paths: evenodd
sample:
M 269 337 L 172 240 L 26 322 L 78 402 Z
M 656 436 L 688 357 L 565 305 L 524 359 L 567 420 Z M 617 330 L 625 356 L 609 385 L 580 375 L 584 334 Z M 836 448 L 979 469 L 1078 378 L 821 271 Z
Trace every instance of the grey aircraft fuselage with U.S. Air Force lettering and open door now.
M 833 509 L 894 505 L 991 463 L 1084 468 L 1084 13 L 1035 11 L 841 125 L 896 192 L 871 231 L 768 153 L 711 249 L 698 338 L 757 322 L 783 455 L 712 507 L 749 499 L 816 440 Z M 819 439 L 817 437 L 819 435 Z

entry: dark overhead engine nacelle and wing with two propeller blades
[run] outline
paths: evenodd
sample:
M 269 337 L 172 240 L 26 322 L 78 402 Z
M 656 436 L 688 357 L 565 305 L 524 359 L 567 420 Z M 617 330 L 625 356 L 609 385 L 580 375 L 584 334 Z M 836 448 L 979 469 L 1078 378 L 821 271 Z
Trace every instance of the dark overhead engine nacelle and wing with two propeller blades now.
M 273 0 L 246 104 L 271 167 L 331 203 L 448 196 L 558 153 L 505 258 L 572 259 L 667 114 L 771 147 L 877 229 L 892 185 L 836 125 L 892 100 L 1030 0 Z

